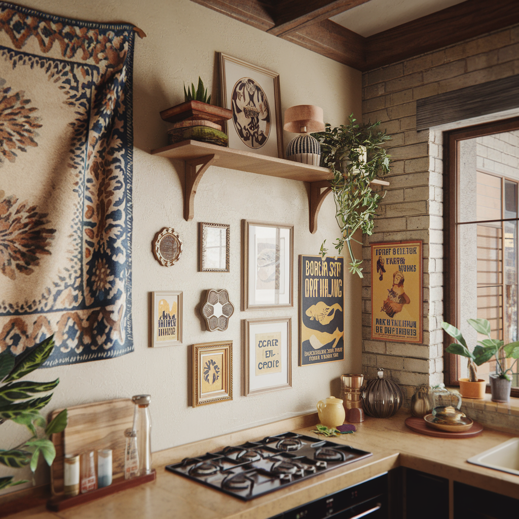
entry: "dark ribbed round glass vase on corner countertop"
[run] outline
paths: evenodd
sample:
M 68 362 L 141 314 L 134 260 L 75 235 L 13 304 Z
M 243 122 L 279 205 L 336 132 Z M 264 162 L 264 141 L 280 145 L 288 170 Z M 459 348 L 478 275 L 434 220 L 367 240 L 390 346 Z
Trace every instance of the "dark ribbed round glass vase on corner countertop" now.
M 398 384 L 384 378 L 384 370 L 377 369 L 377 376 L 367 383 L 362 407 L 367 415 L 389 418 L 402 407 L 404 393 Z

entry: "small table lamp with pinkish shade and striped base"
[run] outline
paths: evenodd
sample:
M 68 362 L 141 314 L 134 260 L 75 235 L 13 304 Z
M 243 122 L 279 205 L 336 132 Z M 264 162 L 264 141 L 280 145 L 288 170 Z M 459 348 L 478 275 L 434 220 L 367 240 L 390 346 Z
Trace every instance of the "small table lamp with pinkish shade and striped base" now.
M 285 110 L 283 129 L 300 134 L 286 146 L 286 158 L 319 166 L 321 146 L 310 133 L 324 131 L 323 109 L 311 104 L 291 106 Z

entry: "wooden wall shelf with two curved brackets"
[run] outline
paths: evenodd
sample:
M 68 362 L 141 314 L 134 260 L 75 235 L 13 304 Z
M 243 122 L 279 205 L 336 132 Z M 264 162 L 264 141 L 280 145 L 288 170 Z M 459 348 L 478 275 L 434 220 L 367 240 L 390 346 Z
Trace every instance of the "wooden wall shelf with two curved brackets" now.
M 309 182 L 310 232 L 312 234 L 317 231 L 319 209 L 326 196 L 331 192 L 329 181 L 333 178 L 333 175 L 326 168 L 254 152 L 245 152 L 240 149 L 226 148 L 199 141 L 182 141 L 153 149 L 152 155 L 185 161 L 184 218 L 188 222 L 193 220 L 194 217 L 194 202 L 198 184 L 209 166 Z M 388 186 L 389 182 L 374 180 L 372 184 Z

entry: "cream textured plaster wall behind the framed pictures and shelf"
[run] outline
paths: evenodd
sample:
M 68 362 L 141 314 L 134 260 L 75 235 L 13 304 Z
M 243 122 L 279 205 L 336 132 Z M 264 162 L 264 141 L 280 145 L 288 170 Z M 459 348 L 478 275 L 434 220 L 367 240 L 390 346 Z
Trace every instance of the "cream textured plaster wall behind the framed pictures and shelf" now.
M 213 99 L 217 93 L 215 52 L 222 51 L 279 72 L 282 112 L 296 104 L 317 104 L 333 125 L 361 116 L 361 74 L 316 53 L 222 16 L 188 0 L 30 0 L 27 7 L 55 15 L 100 22 L 138 25 L 147 38 L 136 38 L 134 58 L 133 169 L 133 335 L 135 351 L 106 360 L 38 370 L 35 380 L 60 377 L 49 409 L 87 402 L 152 395 L 153 450 L 275 421 L 315 409 L 318 400 L 339 396 L 340 374 L 361 368 L 361 286 L 346 274 L 345 361 L 297 367 L 297 256 L 317 254 L 323 239 L 335 239 L 331 197 L 325 200 L 316 235 L 308 230 L 307 187 L 302 182 L 210 168 L 195 199 L 195 219 L 183 219 L 183 163 L 149 154 L 166 144 L 167 125 L 159 111 L 184 101 L 183 81 L 200 75 Z M 291 138 L 284 134 L 285 145 Z M 241 312 L 240 223 L 242 218 L 294 224 L 294 308 Z M 230 224 L 230 273 L 197 272 L 197 222 Z M 174 227 L 184 242 L 175 266 L 161 267 L 153 258 L 151 240 L 164 226 Z M 331 247 L 333 250 L 333 247 Z M 359 251 L 360 254 L 360 251 Z M 236 311 L 227 332 L 206 332 L 197 305 L 207 289 L 225 288 Z M 184 292 L 184 345 L 149 348 L 151 292 Z M 292 317 L 292 389 L 243 397 L 241 320 L 267 316 Z M 192 346 L 216 340 L 234 343 L 234 400 L 193 408 L 188 359 Z M 2 431 L 16 444 L 19 427 Z M 4 432 L 6 433 L 4 435 Z M 20 472 L 18 472 L 20 475 Z M 18 488 L 18 487 L 17 487 Z

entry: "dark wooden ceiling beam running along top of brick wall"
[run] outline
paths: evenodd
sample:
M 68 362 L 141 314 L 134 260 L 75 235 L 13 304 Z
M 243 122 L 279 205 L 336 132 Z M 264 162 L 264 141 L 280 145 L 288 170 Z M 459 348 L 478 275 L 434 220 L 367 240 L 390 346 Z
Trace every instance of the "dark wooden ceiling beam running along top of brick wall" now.
M 366 68 L 395 63 L 519 23 L 518 0 L 468 0 L 366 38 Z

